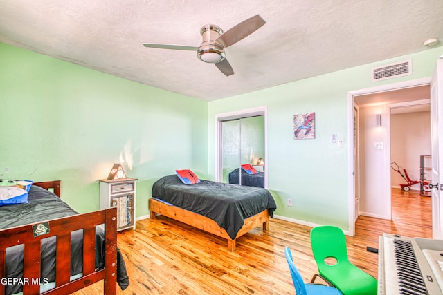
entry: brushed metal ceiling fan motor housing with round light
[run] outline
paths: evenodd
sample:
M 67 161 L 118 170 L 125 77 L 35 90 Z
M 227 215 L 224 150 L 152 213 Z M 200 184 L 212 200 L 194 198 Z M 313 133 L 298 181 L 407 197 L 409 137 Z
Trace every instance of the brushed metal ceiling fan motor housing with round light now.
M 203 41 L 197 51 L 197 57 L 201 61 L 205 61 L 211 64 L 217 64 L 225 58 L 223 47 L 215 42 L 223 30 L 219 26 L 206 25 L 201 27 L 200 34 L 203 37 Z

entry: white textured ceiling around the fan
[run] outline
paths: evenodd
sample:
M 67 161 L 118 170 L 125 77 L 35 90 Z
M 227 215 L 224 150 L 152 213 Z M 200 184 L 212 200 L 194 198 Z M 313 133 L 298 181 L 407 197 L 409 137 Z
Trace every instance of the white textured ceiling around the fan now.
M 199 46 L 201 26 L 257 14 L 266 24 L 225 50 L 229 77 L 143 46 Z M 0 0 L 0 42 L 210 101 L 426 50 L 442 15 L 442 0 Z

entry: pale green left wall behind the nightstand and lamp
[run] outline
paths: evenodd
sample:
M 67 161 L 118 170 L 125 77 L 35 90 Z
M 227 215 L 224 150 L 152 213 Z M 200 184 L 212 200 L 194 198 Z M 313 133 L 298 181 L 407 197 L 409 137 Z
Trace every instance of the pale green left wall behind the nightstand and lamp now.
M 138 178 L 136 216 L 175 169 L 207 176 L 207 103 L 0 44 L 0 178 L 62 180 L 62 199 L 99 209 L 98 179 Z M 9 168 L 10 172 L 5 173 Z

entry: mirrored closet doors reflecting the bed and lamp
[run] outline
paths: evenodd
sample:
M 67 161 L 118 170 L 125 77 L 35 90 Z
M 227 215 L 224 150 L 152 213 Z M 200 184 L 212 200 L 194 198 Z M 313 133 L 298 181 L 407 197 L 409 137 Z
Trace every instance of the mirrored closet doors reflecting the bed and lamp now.
M 223 182 L 264 187 L 264 116 L 224 121 L 221 134 Z

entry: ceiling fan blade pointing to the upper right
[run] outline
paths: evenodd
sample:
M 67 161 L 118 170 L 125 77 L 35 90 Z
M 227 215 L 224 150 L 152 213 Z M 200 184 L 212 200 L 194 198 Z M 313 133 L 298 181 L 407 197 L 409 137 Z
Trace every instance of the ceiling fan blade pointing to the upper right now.
M 261 28 L 266 21 L 260 17 L 260 15 L 255 15 L 250 19 L 246 19 L 246 21 L 242 21 L 237 24 L 237 26 L 233 26 L 226 32 L 220 35 L 215 42 L 220 44 L 223 48 L 231 46 L 238 41 L 244 39 L 248 35 L 251 35 L 253 32 Z

